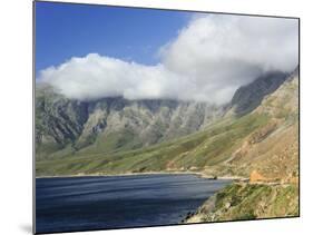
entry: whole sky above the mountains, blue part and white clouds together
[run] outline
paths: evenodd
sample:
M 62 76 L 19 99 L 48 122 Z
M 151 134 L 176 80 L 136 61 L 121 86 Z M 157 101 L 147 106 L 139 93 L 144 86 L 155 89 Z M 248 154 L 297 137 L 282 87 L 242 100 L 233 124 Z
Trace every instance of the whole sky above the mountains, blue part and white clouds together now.
M 37 2 L 36 27 L 37 81 L 79 100 L 221 105 L 263 72 L 299 63 L 294 19 Z

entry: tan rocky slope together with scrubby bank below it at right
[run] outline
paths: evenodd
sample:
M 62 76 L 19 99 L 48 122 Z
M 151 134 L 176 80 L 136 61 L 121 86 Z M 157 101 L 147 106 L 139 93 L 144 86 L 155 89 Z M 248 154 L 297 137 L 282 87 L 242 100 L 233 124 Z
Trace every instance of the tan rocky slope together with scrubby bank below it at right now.
M 254 112 L 271 119 L 215 169 L 250 183 L 227 186 L 184 223 L 299 216 L 299 70 Z

